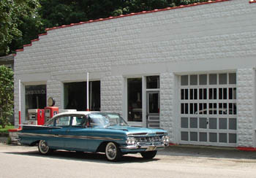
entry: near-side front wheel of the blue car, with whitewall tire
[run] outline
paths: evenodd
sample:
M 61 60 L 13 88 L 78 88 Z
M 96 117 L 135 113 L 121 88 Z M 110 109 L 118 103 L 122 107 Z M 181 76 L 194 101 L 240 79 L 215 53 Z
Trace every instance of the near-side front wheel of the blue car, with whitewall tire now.
M 105 148 L 106 157 L 110 161 L 117 161 L 121 158 L 122 154 L 117 144 L 109 142 Z

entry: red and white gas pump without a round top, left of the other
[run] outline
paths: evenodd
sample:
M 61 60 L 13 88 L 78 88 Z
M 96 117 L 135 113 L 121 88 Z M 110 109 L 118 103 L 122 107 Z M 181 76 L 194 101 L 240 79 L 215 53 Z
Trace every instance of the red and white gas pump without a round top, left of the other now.
M 44 125 L 45 110 L 44 109 L 29 109 L 28 124 L 29 125 Z

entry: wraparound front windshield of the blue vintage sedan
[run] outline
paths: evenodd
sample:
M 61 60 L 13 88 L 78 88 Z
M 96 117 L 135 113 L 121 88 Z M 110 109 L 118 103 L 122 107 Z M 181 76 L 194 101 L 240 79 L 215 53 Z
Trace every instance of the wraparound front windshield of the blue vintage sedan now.
M 117 113 L 101 112 L 89 114 L 89 123 L 92 127 L 108 127 L 110 125 L 127 125 Z

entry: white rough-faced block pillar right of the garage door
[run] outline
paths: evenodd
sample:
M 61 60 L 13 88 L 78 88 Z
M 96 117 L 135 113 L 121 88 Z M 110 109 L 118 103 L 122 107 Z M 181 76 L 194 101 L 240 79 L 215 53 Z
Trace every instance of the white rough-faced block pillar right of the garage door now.
M 255 70 L 237 71 L 237 141 L 241 147 L 255 147 Z

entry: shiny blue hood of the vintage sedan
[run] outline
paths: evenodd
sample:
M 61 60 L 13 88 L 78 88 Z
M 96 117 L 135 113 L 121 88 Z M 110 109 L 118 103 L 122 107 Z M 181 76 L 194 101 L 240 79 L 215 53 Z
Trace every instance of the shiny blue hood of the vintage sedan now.
M 111 125 L 107 129 L 126 131 L 127 135 L 166 134 L 167 131 L 159 128 L 140 128 L 127 125 Z

